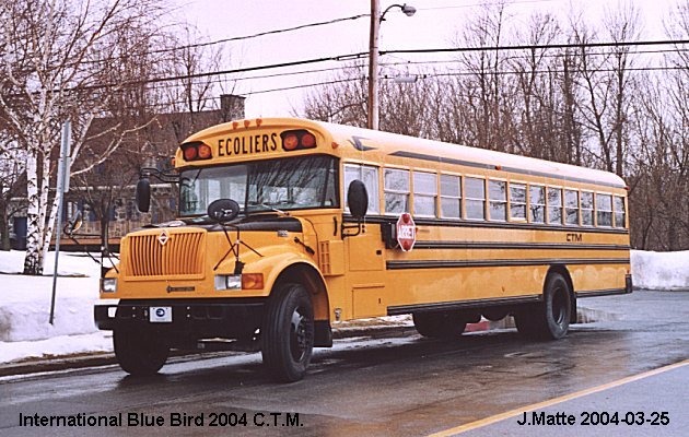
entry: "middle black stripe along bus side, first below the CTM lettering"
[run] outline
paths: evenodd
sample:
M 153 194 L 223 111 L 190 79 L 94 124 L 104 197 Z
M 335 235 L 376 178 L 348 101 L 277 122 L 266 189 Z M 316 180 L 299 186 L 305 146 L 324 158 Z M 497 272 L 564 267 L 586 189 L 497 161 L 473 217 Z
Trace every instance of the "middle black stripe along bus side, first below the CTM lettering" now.
M 405 260 L 387 261 L 387 270 L 406 269 L 448 269 L 470 267 L 513 267 L 513 265 L 574 265 L 574 264 L 629 264 L 629 258 L 538 258 L 538 259 L 495 259 L 495 260 Z

